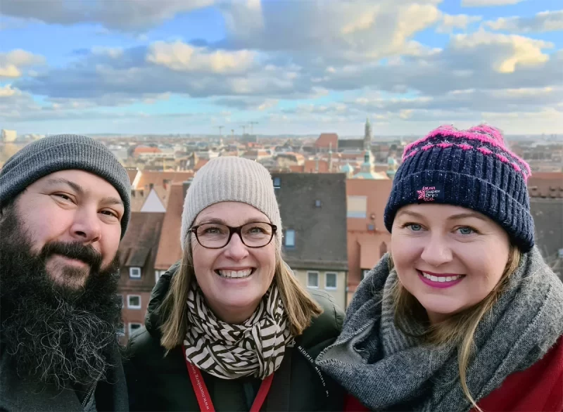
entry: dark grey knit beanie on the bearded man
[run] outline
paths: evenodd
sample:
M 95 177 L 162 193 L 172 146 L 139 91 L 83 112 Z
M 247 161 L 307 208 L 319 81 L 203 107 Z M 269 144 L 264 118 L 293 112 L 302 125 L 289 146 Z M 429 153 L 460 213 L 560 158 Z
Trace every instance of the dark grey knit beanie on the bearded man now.
M 121 238 L 129 223 L 131 183 L 125 168 L 106 146 L 87 136 L 58 134 L 28 144 L 0 170 L 0 206 L 15 198 L 34 181 L 60 170 L 80 169 L 106 179 L 118 191 L 125 213 Z

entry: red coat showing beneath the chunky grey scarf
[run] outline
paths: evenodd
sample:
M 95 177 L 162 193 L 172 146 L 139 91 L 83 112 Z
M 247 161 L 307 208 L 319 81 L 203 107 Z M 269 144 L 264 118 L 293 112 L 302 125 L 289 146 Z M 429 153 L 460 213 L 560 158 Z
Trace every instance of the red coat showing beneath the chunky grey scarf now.
M 502 385 L 477 403 L 484 412 L 563 411 L 563 337 L 526 371 L 512 373 Z M 369 411 L 348 396 L 345 410 Z M 476 409 L 472 409 L 476 412 Z

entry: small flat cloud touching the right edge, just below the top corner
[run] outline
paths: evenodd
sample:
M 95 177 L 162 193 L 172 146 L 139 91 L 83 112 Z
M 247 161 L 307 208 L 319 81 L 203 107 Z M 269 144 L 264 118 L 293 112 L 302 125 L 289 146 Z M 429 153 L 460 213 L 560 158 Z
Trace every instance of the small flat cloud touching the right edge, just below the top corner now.
M 505 30 L 512 33 L 543 33 L 563 30 L 563 10 L 543 11 L 531 18 L 510 17 L 486 22 L 493 30 Z

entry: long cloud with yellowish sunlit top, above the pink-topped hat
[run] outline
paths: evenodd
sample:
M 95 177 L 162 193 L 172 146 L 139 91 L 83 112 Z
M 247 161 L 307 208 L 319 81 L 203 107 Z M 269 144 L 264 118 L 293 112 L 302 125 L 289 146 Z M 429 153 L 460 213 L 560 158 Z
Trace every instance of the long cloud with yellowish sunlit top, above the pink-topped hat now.
M 319 86 L 332 91 L 377 90 L 431 97 L 460 89 L 558 85 L 563 50 L 548 55 L 541 52 L 543 47 L 552 44 L 505 34 L 453 36 L 443 50 L 429 56 L 403 56 L 393 65 L 371 63 L 348 65 L 346 70 L 332 73 L 325 70 Z

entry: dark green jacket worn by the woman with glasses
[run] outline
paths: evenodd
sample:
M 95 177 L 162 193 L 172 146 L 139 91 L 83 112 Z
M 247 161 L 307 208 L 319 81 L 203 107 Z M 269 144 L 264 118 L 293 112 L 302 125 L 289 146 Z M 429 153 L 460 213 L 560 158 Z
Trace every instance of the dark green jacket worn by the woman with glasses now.
M 151 294 L 145 327 L 129 340 L 125 374 L 131 411 L 199 411 L 181 347 L 165 356 L 160 346 L 160 319 L 156 309 L 163 301 L 177 265 L 160 277 Z M 312 291 L 324 313 L 316 318 L 296 345 L 286 350 L 274 374 L 262 411 L 342 411 L 344 392 L 315 366 L 314 360 L 339 335 L 343 311 L 326 292 Z M 284 371 L 282 373 L 282 371 Z M 226 380 L 202 371 L 215 411 L 249 411 L 260 380 Z

